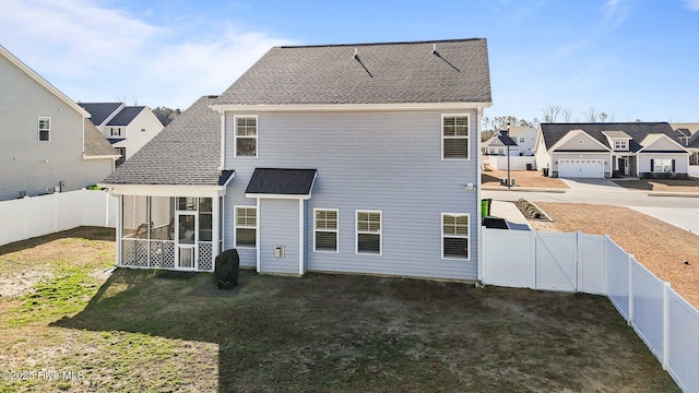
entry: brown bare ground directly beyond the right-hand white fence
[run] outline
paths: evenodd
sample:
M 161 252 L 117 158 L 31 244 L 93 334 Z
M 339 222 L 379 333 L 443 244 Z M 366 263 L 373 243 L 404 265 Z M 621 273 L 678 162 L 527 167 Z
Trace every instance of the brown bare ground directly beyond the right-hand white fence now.
M 554 219 L 543 225 L 532 222 L 537 230 L 609 235 L 699 309 L 699 236 L 627 207 L 549 202 L 537 205 Z

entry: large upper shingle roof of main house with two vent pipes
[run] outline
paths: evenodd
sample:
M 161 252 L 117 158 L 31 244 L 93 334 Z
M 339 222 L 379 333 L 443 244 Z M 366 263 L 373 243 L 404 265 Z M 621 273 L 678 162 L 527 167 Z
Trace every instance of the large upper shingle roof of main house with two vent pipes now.
M 274 47 L 216 104 L 490 102 L 486 40 L 473 38 Z

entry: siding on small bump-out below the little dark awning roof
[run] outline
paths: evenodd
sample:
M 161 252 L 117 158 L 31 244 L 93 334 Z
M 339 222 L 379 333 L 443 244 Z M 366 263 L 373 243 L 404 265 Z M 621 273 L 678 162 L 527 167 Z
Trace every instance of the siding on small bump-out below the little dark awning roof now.
M 298 274 L 298 201 L 260 202 L 260 271 Z M 274 246 L 284 246 L 284 258 L 274 257 Z

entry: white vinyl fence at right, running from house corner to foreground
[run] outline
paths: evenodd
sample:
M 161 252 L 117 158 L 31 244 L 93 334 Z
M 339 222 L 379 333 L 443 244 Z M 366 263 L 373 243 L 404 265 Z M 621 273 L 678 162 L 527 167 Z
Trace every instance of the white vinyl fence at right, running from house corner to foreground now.
M 677 385 L 699 392 L 699 311 L 608 236 L 483 228 L 482 241 L 484 284 L 607 296 Z

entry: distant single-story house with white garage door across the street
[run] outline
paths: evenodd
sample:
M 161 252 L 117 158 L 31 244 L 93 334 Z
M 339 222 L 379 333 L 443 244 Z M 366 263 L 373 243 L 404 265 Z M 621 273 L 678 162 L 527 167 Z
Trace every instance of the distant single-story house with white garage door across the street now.
M 552 177 L 687 175 L 689 151 L 666 122 L 542 123 L 536 166 Z

